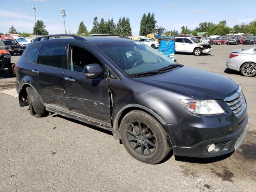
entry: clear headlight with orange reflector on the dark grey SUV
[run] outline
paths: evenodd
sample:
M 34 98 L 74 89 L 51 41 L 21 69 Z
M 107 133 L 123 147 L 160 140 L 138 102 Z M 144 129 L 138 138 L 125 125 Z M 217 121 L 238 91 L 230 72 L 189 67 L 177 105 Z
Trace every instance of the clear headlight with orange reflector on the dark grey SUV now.
M 216 100 L 201 101 L 181 99 L 180 102 L 186 110 L 195 114 L 215 115 L 225 113 Z

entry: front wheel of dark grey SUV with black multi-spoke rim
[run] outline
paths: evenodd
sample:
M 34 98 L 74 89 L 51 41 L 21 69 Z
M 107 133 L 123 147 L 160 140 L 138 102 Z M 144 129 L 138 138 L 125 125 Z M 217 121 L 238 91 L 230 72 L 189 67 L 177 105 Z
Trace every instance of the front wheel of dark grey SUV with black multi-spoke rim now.
M 150 114 L 140 110 L 124 116 L 120 124 L 120 135 L 128 153 L 147 164 L 161 162 L 172 149 L 163 126 Z

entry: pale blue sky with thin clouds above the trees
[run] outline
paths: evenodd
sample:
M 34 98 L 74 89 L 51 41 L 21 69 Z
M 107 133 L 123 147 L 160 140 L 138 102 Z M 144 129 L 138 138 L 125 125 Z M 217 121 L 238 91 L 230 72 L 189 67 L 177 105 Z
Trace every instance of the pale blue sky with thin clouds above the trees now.
M 139 35 L 142 14 L 154 12 L 156 25 L 166 30 L 181 26 L 189 29 L 198 27 L 200 22 L 218 23 L 226 20 L 227 25 L 249 23 L 256 20 L 256 0 L 15 0 L 12 6 L 0 0 L 0 32 L 7 33 L 10 26 L 18 32 L 33 32 L 35 23 L 32 6 L 36 7 L 36 19 L 42 20 L 49 34 L 64 33 L 64 21 L 60 9 L 66 10 L 66 31 L 77 33 L 81 21 L 88 30 L 92 28 L 95 16 L 98 20 L 113 18 L 117 23 L 119 17 L 128 17 L 131 22 L 132 35 Z

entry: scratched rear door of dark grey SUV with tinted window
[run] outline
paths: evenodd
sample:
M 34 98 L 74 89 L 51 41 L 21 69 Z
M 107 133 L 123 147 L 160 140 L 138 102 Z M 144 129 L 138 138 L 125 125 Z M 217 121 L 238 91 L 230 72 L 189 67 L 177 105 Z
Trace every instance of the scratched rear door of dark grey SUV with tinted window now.
M 46 104 L 66 112 L 66 94 L 63 87 L 64 43 L 42 44 L 37 66 L 33 72 L 38 74 L 38 93 Z

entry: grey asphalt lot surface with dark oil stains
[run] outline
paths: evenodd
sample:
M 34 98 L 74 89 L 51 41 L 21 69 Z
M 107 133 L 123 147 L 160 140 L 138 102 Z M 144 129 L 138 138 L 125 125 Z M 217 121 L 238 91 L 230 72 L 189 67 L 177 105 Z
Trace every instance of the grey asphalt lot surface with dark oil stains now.
M 226 69 L 231 50 L 245 47 L 216 45 L 210 55 L 175 55 L 181 64 L 228 76 L 242 86 L 248 134 L 233 154 L 209 159 L 170 154 L 161 164 L 143 164 L 111 132 L 56 114 L 32 117 L 17 99 L 0 94 L 0 191 L 256 191 L 256 77 Z M 18 58 L 12 56 L 12 62 Z M 14 88 L 8 70 L 0 76 L 0 90 Z

